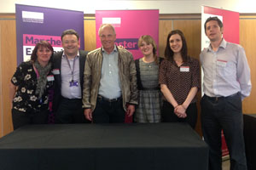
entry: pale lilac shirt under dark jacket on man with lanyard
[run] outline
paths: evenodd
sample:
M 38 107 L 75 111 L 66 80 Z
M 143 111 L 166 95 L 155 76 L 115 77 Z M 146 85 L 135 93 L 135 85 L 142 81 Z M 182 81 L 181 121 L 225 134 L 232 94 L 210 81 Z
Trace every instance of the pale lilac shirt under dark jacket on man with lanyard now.
M 79 78 L 79 52 L 74 59 L 68 59 L 63 53 L 61 58 L 61 96 L 67 99 L 82 99 L 81 84 Z M 73 62 L 75 62 L 73 64 Z M 72 76 L 73 71 L 73 76 Z M 78 86 L 70 87 L 70 81 L 79 82 Z

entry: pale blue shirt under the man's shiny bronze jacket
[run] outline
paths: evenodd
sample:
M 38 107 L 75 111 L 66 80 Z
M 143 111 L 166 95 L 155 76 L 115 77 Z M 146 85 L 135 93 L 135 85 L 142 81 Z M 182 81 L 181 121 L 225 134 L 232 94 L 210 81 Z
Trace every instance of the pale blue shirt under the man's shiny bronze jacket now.
M 99 94 L 108 99 L 119 98 L 122 94 L 118 60 L 119 53 L 116 46 L 114 46 L 113 52 L 110 54 L 102 48 L 102 77 Z

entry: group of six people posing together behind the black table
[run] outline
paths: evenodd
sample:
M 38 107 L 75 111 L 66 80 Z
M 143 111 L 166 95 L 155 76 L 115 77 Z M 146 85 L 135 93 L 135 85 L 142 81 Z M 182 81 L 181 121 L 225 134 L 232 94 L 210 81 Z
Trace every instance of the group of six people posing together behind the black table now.
M 251 91 L 244 49 L 222 37 L 217 17 L 205 22 L 210 45 L 200 55 L 204 71 L 201 99 L 203 137 L 209 145 L 209 169 L 221 169 L 221 130 L 230 150 L 231 169 L 246 169 L 241 100 Z M 11 79 L 14 128 L 47 123 L 49 89 L 56 123 L 187 122 L 195 128 L 196 94 L 201 88 L 200 64 L 189 57 L 182 31 L 166 38 L 164 58 L 154 39 L 138 40 L 143 58 L 134 60 L 115 45 L 114 27 L 103 24 L 102 48 L 79 50 L 79 35 L 63 31 L 64 51 L 54 53 L 49 42 L 38 42 L 31 60 L 22 62 Z

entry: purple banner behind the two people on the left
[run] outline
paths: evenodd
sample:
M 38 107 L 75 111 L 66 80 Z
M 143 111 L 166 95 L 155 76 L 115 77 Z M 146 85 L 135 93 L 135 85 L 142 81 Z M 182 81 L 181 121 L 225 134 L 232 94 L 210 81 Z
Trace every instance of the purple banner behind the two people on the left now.
M 17 65 L 30 59 L 32 49 L 40 40 L 61 51 L 61 33 L 73 29 L 79 33 L 84 49 L 84 12 L 16 4 Z

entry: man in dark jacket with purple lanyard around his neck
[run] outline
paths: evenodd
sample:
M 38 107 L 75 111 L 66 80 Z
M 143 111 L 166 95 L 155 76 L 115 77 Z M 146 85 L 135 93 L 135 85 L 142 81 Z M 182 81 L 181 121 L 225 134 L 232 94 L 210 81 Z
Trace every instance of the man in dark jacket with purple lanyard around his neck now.
M 87 122 L 82 108 L 84 63 L 87 52 L 79 50 L 79 34 L 74 30 L 63 31 L 61 42 L 64 52 L 54 54 L 53 60 L 55 122 Z

